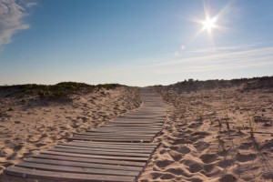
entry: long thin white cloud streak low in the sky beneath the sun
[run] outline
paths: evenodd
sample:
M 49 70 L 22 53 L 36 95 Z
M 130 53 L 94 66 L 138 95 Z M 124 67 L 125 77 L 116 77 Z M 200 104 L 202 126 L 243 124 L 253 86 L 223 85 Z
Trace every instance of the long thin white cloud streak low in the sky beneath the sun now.
M 171 75 L 194 72 L 208 72 L 220 70 L 234 70 L 249 67 L 273 66 L 273 47 L 263 47 L 241 50 L 229 53 L 215 53 L 210 56 L 188 56 L 179 59 L 168 59 L 157 63 L 147 63 L 145 65 L 118 66 L 113 69 L 106 68 L 103 71 L 95 72 L 99 75 Z

